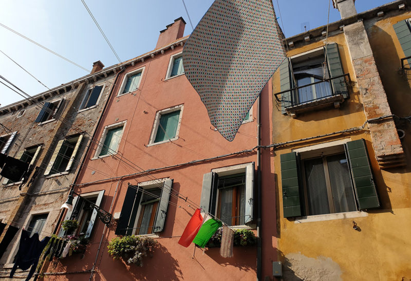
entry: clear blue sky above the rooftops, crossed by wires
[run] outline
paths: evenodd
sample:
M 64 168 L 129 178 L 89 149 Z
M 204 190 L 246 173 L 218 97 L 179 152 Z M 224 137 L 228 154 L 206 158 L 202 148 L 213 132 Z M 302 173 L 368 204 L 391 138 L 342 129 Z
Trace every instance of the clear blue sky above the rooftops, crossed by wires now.
M 184 0 L 194 27 L 213 0 Z M 85 0 L 122 61 L 155 48 L 159 31 L 175 18 L 187 22 L 185 34 L 192 28 L 181 0 Z M 388 3 L 387 0 L 357 0 L 358 12 Z M 329 0 L 278 0 L 274 9 L 286 36 L 327 24 Z M 330 23 L 340 20 L 337 9 L 330 8 Z M 2 1 L 0 23 L 91 69 L 102 61 L 108 67 L 118 63 L 103 36 L 92 22 L 81 0 Z M 0 50 L 32 73 L 47 87 L 82 77 L 88 72 L 30 43 L 0 26 Z M 24 70 L 0 53 L 0 74 L 34 96 L 47 90 Z M 6 106 L 22 100 L 15 92 L 0 84 L 0 104 Z

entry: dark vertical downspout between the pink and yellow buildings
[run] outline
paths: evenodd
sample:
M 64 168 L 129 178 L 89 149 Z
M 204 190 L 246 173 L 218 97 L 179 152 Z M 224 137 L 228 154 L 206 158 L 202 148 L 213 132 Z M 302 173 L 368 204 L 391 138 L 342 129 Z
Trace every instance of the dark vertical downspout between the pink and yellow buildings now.
M 261 278 L 261 91 L 258 97 L 257 112 L 257 280 Z

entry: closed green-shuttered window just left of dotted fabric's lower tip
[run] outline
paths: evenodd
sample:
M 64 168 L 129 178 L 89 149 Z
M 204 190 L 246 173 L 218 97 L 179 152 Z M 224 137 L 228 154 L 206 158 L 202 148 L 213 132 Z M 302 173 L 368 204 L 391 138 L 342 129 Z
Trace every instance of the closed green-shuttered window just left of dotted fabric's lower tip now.
M 178 139 L 183 106 L 157 111 L 149 144 Z

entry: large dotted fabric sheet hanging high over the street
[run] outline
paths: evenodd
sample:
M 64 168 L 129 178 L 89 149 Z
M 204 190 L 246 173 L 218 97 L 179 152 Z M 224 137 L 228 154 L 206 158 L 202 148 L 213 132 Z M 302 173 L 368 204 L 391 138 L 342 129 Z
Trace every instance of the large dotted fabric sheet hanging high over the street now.
M 184 46 L 185 76 L 229 141 L 285 59 L 279 34 L 270 0 L 216 0 Z

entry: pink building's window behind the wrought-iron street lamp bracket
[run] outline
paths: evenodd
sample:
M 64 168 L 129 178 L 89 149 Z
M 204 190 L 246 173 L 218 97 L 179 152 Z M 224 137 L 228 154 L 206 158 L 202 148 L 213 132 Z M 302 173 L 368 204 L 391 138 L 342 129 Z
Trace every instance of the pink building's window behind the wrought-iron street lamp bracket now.
M 75 219 L 79 222 L 79 227 L 77 230 L 71 232 L 61 229 L 59 236 L 76 234 L 84 235 L 86 238 L 90 237 L 97 217 L 97 211 L 92 207 L 90 202 L 100 207 L 103 196 L 104 190 L 81 194 L 81 197 L 74 197 L 73 210 L 72 212 L 67 211 L 64 220 Z

